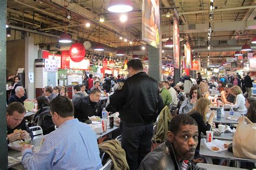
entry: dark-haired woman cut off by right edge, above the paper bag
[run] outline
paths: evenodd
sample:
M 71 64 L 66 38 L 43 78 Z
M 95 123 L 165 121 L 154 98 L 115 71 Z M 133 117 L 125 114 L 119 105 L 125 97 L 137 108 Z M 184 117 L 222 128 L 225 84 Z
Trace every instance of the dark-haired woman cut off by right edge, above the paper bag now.
M 245 102 L 247 108 L 246 117 L 252 122 L 256 123 L 256 98 L 247 98 Z

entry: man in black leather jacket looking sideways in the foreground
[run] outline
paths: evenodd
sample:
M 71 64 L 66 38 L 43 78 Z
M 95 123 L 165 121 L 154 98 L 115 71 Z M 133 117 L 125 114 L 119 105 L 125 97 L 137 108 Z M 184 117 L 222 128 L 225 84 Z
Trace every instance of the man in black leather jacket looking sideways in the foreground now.
M 188 115 L 180 114 L 172 118 L 167 133 L 167 141 L 146 155 L 140 170 L 180 170 L 199 168 L 190 160 L 198 144 L 198 126 Z

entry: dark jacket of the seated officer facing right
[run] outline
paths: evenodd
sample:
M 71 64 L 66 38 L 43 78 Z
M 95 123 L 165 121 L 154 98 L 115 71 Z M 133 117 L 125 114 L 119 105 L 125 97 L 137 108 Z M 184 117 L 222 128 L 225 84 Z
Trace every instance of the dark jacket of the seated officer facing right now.
M 92 102 L 90 95 L 85 97 L 78 97 L 72 100 L 75 113 L 74 116 L 80 122 L 84 122 L 88 119 L 88 116 L 100 116 L 102 117 L 102 104 L 100 102 Z

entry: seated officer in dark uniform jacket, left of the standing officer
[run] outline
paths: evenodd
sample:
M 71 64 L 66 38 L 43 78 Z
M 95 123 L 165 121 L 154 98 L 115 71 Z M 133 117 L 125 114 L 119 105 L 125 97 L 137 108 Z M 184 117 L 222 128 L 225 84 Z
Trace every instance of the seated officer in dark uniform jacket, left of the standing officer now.
M 86 122 L 88 116 L 100 116 L 102 113 L 102 104 L 100 100 L 100 90 L 93 89 L 89 96 L 78 97 L 73 100 L 73 105 L 75 109 L 74 116 L 80 122 Z

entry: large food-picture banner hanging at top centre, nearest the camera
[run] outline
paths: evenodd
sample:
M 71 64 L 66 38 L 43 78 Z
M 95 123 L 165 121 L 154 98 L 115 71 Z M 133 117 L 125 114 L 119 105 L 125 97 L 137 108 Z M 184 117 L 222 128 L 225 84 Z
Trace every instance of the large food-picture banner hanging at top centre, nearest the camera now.
M 159 48 L 160 36 L 159 0 L 142 1 L 142 40 Z

